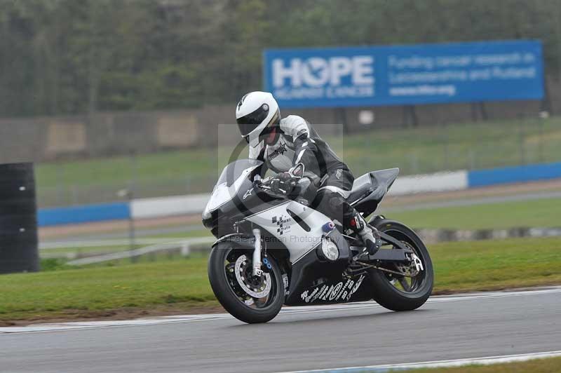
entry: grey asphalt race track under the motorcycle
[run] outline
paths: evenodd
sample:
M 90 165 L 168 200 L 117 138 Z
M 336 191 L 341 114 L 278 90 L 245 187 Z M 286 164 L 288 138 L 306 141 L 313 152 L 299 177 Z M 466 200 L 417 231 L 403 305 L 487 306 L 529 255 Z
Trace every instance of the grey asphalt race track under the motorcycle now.
M 560 310 L 554 287 L 433 297 L 406 313 L 285 308 L 264 325 L 218 315 L 0 328 L 0 371 L 285 372 L 538 353 L 561 350 Z

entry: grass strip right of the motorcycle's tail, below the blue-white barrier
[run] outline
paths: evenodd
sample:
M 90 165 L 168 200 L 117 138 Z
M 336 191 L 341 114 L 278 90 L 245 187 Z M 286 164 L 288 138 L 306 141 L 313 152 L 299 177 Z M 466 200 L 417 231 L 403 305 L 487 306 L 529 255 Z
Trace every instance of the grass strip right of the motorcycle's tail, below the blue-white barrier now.
M 504 229 L 561 226 L 561 198 L 389 212 L 414 228 Z

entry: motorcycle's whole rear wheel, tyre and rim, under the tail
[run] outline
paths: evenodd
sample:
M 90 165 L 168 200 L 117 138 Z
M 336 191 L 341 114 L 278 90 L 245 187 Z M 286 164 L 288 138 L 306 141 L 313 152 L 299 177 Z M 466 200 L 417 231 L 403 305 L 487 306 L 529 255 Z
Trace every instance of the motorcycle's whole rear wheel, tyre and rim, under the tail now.
M 391 268 L 388 269 L 394 273 L 370 269 L 372 298 L 392 311 L 412 311 L 419 308 L 431 296 L 434 283 L 433 263 L 426 246 L 412 229 L 400 222 L 382 219 L 377 221 L 375 227 L 413 250 L 421 260 L 423 269 L 417 270 L 414 264 L 389 264 Z M 395 272 L 407 273 L 408 276 L 399 276 Z

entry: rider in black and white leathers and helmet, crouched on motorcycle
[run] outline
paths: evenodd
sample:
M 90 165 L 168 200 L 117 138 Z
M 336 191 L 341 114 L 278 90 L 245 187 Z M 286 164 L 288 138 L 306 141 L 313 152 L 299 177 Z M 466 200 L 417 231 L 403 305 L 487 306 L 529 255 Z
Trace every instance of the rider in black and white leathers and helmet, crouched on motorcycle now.
M 280 118 L 280 109 L 268 92 L 250 92 L 236 107 L 236 121 L 241 136 L 249 144 L 251 159 L 263 161 L 277 172 L 273 191 L 290 191 L 292 168 L 304 164 L 304 177 L 318 188 L 312 208 L 356 232 L 370 254 L 380 247 L 379 233 L 369 226 L 346 197 L 354 177 L 349 168 L 301 116 Z

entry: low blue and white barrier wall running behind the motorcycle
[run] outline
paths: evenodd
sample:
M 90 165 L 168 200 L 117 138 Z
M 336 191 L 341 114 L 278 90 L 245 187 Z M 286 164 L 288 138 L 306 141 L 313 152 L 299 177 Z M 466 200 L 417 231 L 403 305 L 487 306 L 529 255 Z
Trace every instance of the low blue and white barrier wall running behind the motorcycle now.
M 561 178 L 561 163 L 520 165 L 489 170 L 459 170 L 427 175 L 398 177 L 389 194 L 403 196 L 435 191 L 456 191 L 480 186 L 532 182 Z M 39 226 L 56 226 L 102 222 L 107 220 L 147 219 L 173 215 L 199 214 L 205 208 L 209 194 L 141 198 L 131 203 L 46 208 L 39 210 Z

